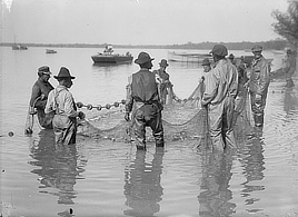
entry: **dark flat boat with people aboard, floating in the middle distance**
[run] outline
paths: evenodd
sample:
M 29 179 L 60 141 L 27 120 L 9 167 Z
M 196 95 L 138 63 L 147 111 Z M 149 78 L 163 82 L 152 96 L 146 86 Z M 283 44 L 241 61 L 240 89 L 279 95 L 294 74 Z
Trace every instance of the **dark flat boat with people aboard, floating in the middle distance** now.
M 103 53 L 91 56 L 95 63 L 130 63 L 133 59 L 130 52 L 126 55 L 113 53 L 111 46 L 107 46 Z

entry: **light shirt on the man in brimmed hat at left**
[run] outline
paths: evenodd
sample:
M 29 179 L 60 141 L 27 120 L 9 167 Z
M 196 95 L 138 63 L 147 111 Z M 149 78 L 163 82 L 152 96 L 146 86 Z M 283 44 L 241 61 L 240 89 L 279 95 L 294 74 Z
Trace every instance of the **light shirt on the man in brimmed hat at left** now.
M 77 107 L 71 92 L 64 86 L 57 86 L 50 91 L 44 112 L 56 111 L 59 115 L 77 117 Z

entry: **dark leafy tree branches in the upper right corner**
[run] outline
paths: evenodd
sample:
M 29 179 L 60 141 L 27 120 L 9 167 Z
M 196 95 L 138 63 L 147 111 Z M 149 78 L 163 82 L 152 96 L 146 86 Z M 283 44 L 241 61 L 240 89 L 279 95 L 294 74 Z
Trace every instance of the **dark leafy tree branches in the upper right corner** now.
M 272 12 L 277 22 L 272 23 L 275 32 L 286 38 L 297 49 L 298 47 L 298 1 L 288 0 L 288 11 L 282 13 L 279 10 Z

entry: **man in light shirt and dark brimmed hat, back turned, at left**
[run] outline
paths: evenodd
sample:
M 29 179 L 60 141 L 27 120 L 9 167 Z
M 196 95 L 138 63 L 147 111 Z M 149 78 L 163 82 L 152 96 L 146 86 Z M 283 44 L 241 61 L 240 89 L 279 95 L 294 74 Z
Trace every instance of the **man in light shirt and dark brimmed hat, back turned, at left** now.
M 59 85 L 49 93 L 44 112 L 54 111 L 52 120 L 56 142 L 70 145 L 76 144 L 77 136 L 77 117 L 85 118 L 82 111 L 77 111 L 71 92 L 68 90 L 72 86 L 71 76 L 66 67 L 61 67 L 58 76 L 54 76 Z

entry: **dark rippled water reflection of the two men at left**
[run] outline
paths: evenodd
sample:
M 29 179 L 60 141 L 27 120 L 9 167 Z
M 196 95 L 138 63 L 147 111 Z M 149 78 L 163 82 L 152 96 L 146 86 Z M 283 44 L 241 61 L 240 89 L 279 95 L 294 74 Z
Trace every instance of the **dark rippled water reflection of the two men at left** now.
M 29 161 L 38 167 L 31 172 L 39 176 L 39 193 L 57 196 L 58 204 L 73 204 L 76 180 L 85 171 L 85 164 L 78 166 L 76 145 L 56 145 L 52 130 L 41 130 L 39 136 L 39 142 L 30 147 L 33 160 Z

